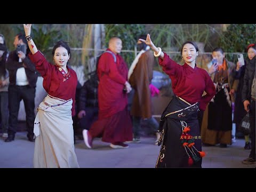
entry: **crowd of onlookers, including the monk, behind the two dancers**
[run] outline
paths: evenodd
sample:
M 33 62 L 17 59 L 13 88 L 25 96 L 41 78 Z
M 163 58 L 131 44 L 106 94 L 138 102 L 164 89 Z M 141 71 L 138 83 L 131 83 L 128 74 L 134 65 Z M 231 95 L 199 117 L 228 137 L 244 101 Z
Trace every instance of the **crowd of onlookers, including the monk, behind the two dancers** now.
M 15 35 L 13 45 L 15 50 L 9 51 L 4 36 L 0 34 L 2 137 L 5 142 L 14 140 L 18 126 L 19 104 L 23 100 L 27 138 L 34 142 L 34 109 L 38 107 L 35 106 L 38 72 L 28 57 L 30 51 L 25 35 L 21 33 Z M 110 54 L 110 52 L 121 52 L 121 39 L 110 39 L 107 51 L 99 60 L 100 70 L 87 74 L 89 78 L 83 85 L 78 82 L 76 115 L 73 116 L 74 139 L 76 135 L 81 137 L 83 135 L 85 144 L 89 148 L 92 147 L 94 137 L 102 137 L 103 141 L 111 142 L 112 148 L 127 148 L 126 141 L 139 143 L 141 122 L 145 120 L 147 126 L 156 133 L 155 144 L 158 143 L 158 122 L 152 117 L 151 101 L 154 91 L 157 92 L 151 84 L 155 58 L 145 44 L 138 41 L 137 46 L 140 53 L 128 69 L 120 55 L 113 58 Z M 242 134 L 245 138 L 244 148 L 251 149 L 250 157 L 243 163 L 252 164 L 255 163 L 255 44 L 250 44 L 246 52 L 247 58 L 244 62 L 233 63 L 225 58 L 225 51 L 221 47 L 216 47 L 212 51 L 212 60 L 207 65 L 206 71 L 215 85 L 216 94 L 206 110 L 198 113 L 198 120 L 204 146 L 219 144 L 220 147 L 226 148 L 235 142 L 236 135 Z M 122 65 L 110 68 L 107 62 L 116 63 L 116 60 Z M 116 86 L 119 84 L 123 86 L 122 93 L 116 91 Z M 135 92 L 128 110 L 127 93 L 131 90 Z M 251 135 L 243 135 L 239 130 L 241 121 L 247 113 L 250 113 Z M 232 134 L 233 123 L 236 125 L 236 135 Z M 100 126 L 105 128 L 97 130 Z M 109 126 L 111 129 L 107 128 Z M 122 131 L 118 128 L 120 126 L 124 126 Z M 131 126 L 132 131 L 129 132 Z

